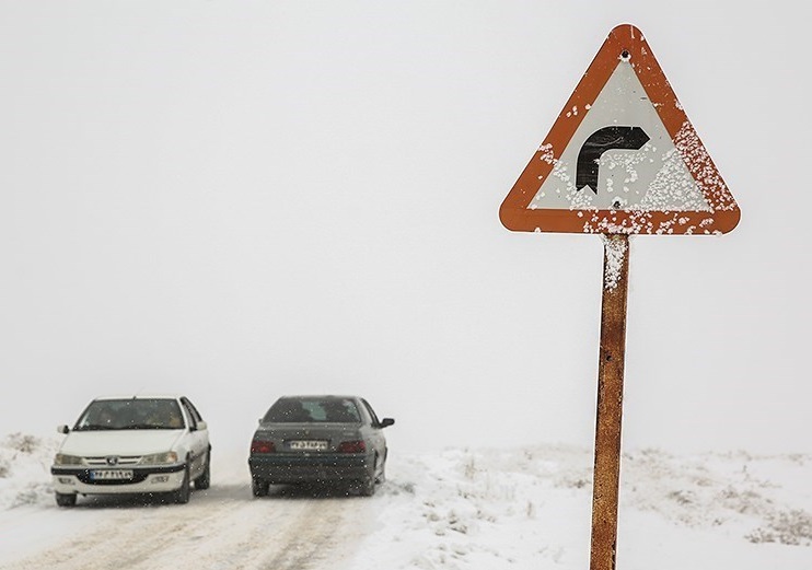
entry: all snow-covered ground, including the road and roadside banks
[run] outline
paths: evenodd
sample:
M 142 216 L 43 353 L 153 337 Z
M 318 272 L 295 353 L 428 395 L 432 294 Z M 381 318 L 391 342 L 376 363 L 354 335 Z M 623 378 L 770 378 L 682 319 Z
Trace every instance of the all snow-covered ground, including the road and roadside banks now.
M 119 501 L 111 509 L 80 499 L 66 510 L 49 488 L 56 445 L 21 433 L 0 438 L 4 570 L 589 567 L 591 450 L 540 444 L 408 456 L 395 450 L 374 497 L 304 500 L 253 499 L 245 457 L 221 452 L 211 489 L 193 493 L 187 505 Z M 809 570 L 810 481 L 810 455 L 627 453 L 617 567 Z M 218 514 L 202 524 L 204 513 Z M 140 545 L 138 556 L 114 560 L 116 548 L 134 548 L 113 534 L 118 526 L 128 536 L 143 528 L 139 540 L 155 540 L 154 547 Z M 104 546 L 93 534 L 112 538 Z M 120 547 L 111 546 L 119 539 Z M 259 543 L 288 546 L 258 551 Z M 89 566 L 84 552 L 94 547 L 103 561 Z M 177 556 L 177 548 L 188 554 Z

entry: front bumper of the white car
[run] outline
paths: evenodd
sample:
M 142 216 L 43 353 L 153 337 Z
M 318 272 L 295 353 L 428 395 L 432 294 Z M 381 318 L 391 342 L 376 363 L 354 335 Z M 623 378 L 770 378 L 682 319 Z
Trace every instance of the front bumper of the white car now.
M 186 465 L 134 467 L 131 479 L 93 480 L 85 467 L 53 466 L 54 490 L 60 495 L 123 495 L 175 491 L 183 485 Z

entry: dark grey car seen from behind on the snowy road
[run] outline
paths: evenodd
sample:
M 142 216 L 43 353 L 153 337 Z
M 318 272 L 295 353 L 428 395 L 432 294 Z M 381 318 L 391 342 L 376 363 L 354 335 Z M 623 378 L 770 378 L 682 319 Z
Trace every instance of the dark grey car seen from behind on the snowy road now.
M 383 428 L 358 396 L 283 396 L 259 420 L 251 442 L 248 467 L 255 497 L 270 485 L 324 484 L 375 492 L 386 472 Z

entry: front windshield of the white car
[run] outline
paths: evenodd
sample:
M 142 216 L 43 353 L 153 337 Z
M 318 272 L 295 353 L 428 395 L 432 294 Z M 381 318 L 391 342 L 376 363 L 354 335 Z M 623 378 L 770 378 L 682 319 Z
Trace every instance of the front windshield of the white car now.
M 97 399 L 77 421 L 76 431 L 177 430 L 184 427 L 181 406 L 170 398 Z

